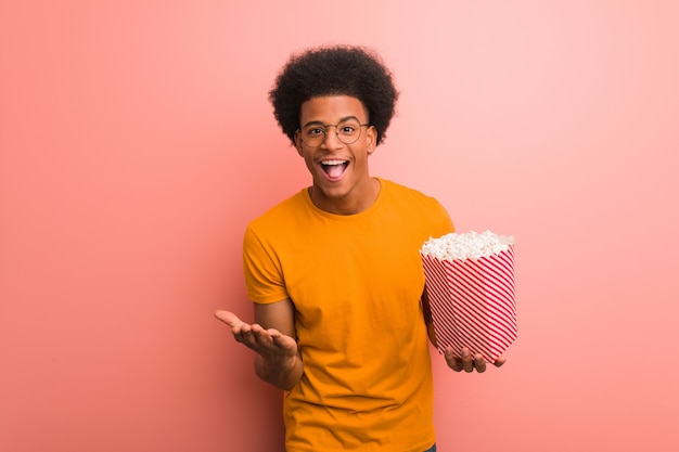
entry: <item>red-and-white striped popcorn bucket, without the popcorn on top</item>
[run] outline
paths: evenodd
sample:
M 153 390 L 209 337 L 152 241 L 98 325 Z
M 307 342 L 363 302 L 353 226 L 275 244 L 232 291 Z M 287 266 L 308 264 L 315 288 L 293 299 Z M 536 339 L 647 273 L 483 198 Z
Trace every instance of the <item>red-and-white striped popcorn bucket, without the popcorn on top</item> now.
M 421 251 L 436 346 L 462 347 L 495 362 L 516 339 L 514 246 L 476 259 L 441 259 Z

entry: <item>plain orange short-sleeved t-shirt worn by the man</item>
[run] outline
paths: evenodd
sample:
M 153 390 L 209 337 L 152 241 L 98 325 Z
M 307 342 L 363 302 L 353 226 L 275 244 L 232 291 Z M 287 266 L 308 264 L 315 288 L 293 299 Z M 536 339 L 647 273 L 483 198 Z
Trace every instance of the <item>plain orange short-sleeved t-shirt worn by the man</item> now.
M 249 298 L 290 298 L 304 375 L 285 391 L 289 452 L 422 452 L 435 441 L 419 249 L 452 232 L 434 198 L 380 180 L 366 211 L 329 214 L 305 189 L 247 228 Z

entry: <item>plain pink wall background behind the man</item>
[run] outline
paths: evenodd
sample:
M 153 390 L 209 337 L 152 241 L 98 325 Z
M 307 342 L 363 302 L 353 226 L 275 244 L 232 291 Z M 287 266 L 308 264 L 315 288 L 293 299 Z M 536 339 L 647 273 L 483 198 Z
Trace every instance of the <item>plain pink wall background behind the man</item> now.
M 372 171 L 515 234 L 502 370 L 435 356 L 441 451 L 679 449 L 674 1 L 4 1 L 0 450 L 282 451 L 246 222 L 309 182 L 267 101 L 292 51 L 374 47 Z M 379 357 L 375 357 L 379 359 Z

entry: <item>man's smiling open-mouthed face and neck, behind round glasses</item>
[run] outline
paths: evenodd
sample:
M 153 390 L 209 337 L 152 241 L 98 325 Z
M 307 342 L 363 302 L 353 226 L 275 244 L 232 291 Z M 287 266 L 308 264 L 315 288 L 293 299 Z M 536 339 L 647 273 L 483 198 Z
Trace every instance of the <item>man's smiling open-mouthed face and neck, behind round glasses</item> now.
M 346 133 L 351 129 L 337 128 L 335 125 L 353 120 L 359 126 L 358 139 L 346 144 Z M 311 201 L 322 210 L 333 214 L 350 215 L 366 210 L 374 203 L 379 192 L 379 182 L 370 178 L 368 156 L 375 150 L 376 130 L 369 122 L 363 104 L 348 95 L 312 98 L 302 104 L 300 130 L 320 126 L 324 128 L 325 139 L 317 147 L 303 141 L 303 131 L 295 134 L 297 152 L 305 159 L 313 178 Z M 340 133 L 340 135 L 338 135 Z M 341 139 L 342 138 L 342 139 Z M 307 140 L 308 141 L 308 140 Z

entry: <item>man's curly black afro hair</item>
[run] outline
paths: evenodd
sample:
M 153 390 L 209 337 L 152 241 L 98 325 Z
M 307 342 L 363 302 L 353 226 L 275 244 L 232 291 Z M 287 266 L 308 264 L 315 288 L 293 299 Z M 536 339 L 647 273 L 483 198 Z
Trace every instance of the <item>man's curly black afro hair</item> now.
M 376 144 L 384 140 L 398 92 L 377 53 L 364 47 L 333 46 L 291 56 L 269 91 L 269 101 L 273 116 L 293 144 L 302 104 L 325 95 L 350 95 L 361 101 L 369 122 L 377 130 Z

